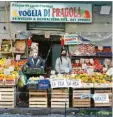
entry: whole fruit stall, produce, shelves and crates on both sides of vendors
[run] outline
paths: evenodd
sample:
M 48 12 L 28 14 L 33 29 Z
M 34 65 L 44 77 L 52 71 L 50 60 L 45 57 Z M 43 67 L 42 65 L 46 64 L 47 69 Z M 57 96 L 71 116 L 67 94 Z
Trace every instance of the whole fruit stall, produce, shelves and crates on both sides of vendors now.
M 23 67 L 27 62 L 27 57 L 26 59 L 18 58 L 16 54 L 24 54 L 25 43 L 25 41 L 16 40 L 16 47 L 13 48 L 15 59 L 0 59 L 1 108 L 16 106 L 18 94 L 16 86 L 24 77 L 21 70 L 24 75 L 29 76 L 25 84 L 28 89 L 26 94 L 29 95 L 29 108 L 112 107 L 112 75 L 107 73 L 112 64 L 111 47 L 97 47 L 89 42 L 67 44 L 65 48 L 68 49 L 72 61 L 72 73 L 46 74 L 43 69 Z M 1 54 L 9 54 L 10 49 L 10 43 L 3 42 Z M 5 101 L 7 103 L 4 103 Z

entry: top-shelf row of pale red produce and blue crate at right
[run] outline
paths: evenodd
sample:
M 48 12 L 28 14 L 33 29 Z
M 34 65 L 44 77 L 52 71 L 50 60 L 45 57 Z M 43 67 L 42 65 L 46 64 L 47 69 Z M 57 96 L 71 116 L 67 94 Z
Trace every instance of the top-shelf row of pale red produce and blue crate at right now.
M 112 56 L 110 46 L 94 46 L 93 44 L 79 44 L 71 46 L 71 56 Z

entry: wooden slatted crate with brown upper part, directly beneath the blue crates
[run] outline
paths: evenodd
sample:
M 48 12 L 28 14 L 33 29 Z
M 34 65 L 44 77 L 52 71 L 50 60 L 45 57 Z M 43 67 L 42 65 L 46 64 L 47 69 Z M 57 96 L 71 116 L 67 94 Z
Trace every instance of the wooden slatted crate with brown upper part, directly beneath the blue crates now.
M 29 107 L 48 107 L 47 90 L 29 90 Z

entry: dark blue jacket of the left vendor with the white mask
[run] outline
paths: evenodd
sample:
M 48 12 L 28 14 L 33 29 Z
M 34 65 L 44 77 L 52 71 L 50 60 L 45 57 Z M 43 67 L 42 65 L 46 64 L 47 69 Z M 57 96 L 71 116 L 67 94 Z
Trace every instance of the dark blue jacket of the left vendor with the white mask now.
M 28 65 L 28 67 L 31 67 L 31 68 L 45 67 L 44 60 L 40 56 L 37 58 L 36 62 L 33 57 L 29 57 L 26 65 Z

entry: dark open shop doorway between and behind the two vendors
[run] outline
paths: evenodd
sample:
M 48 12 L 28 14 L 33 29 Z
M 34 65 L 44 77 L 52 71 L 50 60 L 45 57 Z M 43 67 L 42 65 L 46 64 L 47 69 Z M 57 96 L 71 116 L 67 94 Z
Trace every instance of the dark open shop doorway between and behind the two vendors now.
M 32 35 L 32 41 L 39 43 L 39 56 L 41 56 L 44 60 L 46 60 L 45 63 L 45 70 L 50 71 L 51 69 L 54 69 L 55 55 L 59 55 L 60 50 L 57 49 L 54 50 L 54 45 L 59 45 L 60 48 L 60 36 L 52 35 L 50 39 L 45 39 L 44 35 Z M 57 48 L 58 48 L 57 47 Z

